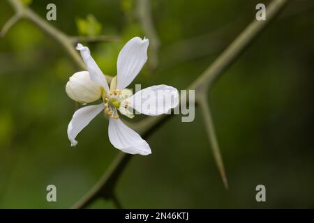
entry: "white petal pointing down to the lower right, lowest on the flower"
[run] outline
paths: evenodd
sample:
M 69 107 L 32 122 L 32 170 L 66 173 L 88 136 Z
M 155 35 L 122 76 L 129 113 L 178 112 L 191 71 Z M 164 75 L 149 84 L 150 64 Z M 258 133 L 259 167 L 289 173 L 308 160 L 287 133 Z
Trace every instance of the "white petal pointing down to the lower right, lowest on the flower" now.
M 149 155 L 151 148 L 147 141 L 134 130 L 128 128 L 120 119 L 110 118 L 109 139 L 111 144 L 124 153 Z

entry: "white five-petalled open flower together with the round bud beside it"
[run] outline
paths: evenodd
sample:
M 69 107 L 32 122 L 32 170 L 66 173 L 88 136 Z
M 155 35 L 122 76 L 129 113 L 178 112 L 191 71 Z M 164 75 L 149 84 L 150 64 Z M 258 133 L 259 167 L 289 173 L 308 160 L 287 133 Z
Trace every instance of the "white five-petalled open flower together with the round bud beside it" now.
M 147 48 L 149 40 L 139 37 L 132 38 L 124 45 L 118 56 L 117 76 L 112 79 L 110 88 L 107 80 L 91 57 L 88 47 L 77 44 L 76 49 L 80 50 L 82 59 L 87 66 L 87 71 L 77 72 L 66 85 L 66 92 L 69 97 L 78 102 L 93 102 L 101 98 L 100 105 L 89 105 L 78 109 L 68 125 L 68 139 L 71 146 L 75 146 L 75 137 L 79 134 L 97 114 L 104 110 L 109 116 L 109 139 L 111 144 L 124 153 L 149 155 L 151 148 L 147 141 L 140 137 L 134 130 L 128 128 L 119 118 L 117 110 L 133 118 L 131 109 L 142 114 L 155 116 L 165 114 L 170 109 L 179 105 L 179 93 L 177 89 L 167 85 L 151 86 L 142 89 L 132 95 L 132 91 L 126 87 L 140 72 L 147 61 Z M 160 103 L 160 97 L 147 97 L 151 93 L 167 92 L 165 103 Z M 100 93 L 100 94 L 99 94 Z M 156 94 L 155 94 L 156 95 Z M 149 106 L 143 106 L 143 105 Z

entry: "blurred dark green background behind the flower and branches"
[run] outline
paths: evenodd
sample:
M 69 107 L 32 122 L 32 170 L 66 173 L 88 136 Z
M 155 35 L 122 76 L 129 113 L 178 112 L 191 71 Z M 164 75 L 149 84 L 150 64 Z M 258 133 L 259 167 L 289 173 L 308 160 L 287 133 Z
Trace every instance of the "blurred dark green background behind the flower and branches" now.
M 255 19 L 246 0 L 151 1 L 160 38 L 158 66 L 149 61 L 133 83 L 185 89 Z M 85 43 L 108 75 L 119 50 L 145 36 L 137 1 L 32 1 L 69 35 L 114 35 L 118 43 Z M 196 109 L 195 121 L 175 116 L 147 139 L 153 153 L 136 155 L 117 185 L 125 208 L 314 208 L 314 3 L 292 1 L 216 82 L 209 95 L 230 184 L 216 169 Z M 0 1 L 0 26 L 13 15 Z M 148 36 L 149 37 L 149 36 Z M 150 47 L 151 49 L 151 47 Z M 151 55 L 151 51 L 149 52 Z M 69 208 L 117 155 L 99 115 L 70 147 L 66 128 L 74 103 L 65 92 L 77 72 L 63 49 L 20 21 L 0 39 L 0 208 Z M 46 186 L 57 186 L 57 202 Z M 255 201 L 255 187 L 267 202 Z M 114 208 L 99 200 L 90 208 Z

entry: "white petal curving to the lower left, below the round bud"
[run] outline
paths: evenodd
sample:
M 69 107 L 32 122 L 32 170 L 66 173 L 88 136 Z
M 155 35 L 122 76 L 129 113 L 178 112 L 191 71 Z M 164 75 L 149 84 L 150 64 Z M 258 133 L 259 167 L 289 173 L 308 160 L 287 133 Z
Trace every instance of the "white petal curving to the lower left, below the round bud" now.
M 103 110 L 103 104 L 100 105 L 89 105 L 78 109 L 74 114 L 73 118 L 68 124 L 68 139 L 71 142 L 71 146 L 76 146 L 77 141 L 75 137 L 79 134 L 85 126 L 87 126 L 97 114 Z

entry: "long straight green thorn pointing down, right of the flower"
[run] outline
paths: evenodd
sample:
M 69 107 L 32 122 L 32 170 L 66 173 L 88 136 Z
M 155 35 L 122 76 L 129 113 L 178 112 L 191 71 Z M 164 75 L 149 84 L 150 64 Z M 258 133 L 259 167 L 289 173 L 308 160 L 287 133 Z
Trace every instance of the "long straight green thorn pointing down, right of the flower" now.
M 225 189 L 228 189 L 227 176 L 225 174 L 225 167 L 223 165 L 223 157 L 220 153 L 220 148 L 218 144 L 218 139 L 216 136 L 214 121 L 211 116 L 211 110 L 209 109 L 209 104 L 207 102 L 207 98 L 204 96 L 198 98 L 200 109 L 202 110 L 202 115 L 204 118 L 204 125 L 207 131 L 209 143 L 211 144 L 211 149 L 213 151 L 214 160 L 218 167 L 221 178 L 223 179 L 223 185 Z

